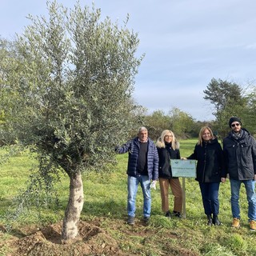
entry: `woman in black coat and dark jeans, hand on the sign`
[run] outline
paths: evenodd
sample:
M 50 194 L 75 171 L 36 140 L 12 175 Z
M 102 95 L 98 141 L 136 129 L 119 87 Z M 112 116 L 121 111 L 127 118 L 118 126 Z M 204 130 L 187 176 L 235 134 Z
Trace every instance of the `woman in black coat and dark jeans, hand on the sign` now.
M 197 178 L 199 182 L 202 203 L 207 215 L 207 225 L 221 225 L 218 219 L 218 190 L 220 182 L 226 181 L 226 168 L 222 146 L 210 127 L 204 126 L 199 132 L 198 143 L 194 153 L 187 159 L 195 159 L 197 163 Z

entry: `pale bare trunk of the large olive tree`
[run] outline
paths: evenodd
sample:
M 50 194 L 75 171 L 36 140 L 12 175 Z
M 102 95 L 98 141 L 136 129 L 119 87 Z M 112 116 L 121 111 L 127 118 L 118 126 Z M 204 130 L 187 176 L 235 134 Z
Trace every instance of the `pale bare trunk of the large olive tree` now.
M 84 202 L 82 174 L 70 174 L 70 198 L 66 206 L 62 225 L 62 240 L 74 239 L 78 236 L 78 223 Z

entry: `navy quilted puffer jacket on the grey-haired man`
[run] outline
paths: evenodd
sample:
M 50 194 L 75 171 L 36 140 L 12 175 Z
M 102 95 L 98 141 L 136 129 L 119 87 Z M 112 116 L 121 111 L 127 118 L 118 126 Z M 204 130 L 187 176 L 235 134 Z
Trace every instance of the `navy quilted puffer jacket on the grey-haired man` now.
M 139 142 L 138 137 L 131 139 L 126 144 L 118 147 L 116 149 L 118 154 L 125 154 L 129 152 L 127 174 L 129 176 L 136 177 L 137 175 L 137 162 L 138 162 L 138 152 L 139 152 Z M 147 170 L 149 174 L 149 179 L 156 181 L 158 179 L 158 150 L 154 145 L 154 142 L 148 138 L 148 150 L 147 150 Z

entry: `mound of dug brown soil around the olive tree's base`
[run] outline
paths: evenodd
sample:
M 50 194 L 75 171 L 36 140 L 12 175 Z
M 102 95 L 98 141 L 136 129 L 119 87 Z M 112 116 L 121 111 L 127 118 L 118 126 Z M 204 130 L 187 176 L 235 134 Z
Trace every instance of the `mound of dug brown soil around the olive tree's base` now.
M 5 232 L 3 227 L 0 227 Z M 79 223 L 79 237 L 70 243 L 64 244 L 61 239 L 62 222 L 46 226 L 40 230 L 30 228 L 19 231 L 17 236 L 8 240 L 7 245 L 12 252 L 11 256 L 73 256 L 73 255 L 127 255 L 118 249 L 118 243 L 106 234 L 100 227 L 90 222 Z M 2 246 L 0 244 L 0 246 Z

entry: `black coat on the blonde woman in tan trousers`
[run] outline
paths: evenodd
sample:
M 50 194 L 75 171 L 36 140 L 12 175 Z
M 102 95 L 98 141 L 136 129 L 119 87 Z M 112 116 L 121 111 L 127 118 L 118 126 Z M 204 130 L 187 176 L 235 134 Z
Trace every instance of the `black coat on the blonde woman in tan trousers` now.
M 170 144 L 166 144 L 166 147 L 157 147 L 157 149 L 159 156 L 159 178 L 172 178 L 170 159 L 180 159 L 179 150 L 173 150 Z

